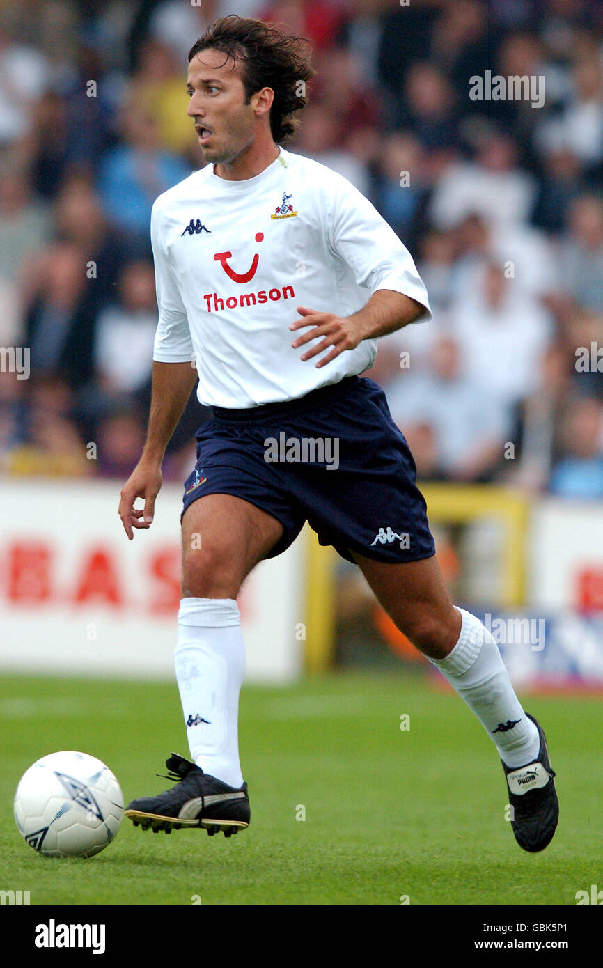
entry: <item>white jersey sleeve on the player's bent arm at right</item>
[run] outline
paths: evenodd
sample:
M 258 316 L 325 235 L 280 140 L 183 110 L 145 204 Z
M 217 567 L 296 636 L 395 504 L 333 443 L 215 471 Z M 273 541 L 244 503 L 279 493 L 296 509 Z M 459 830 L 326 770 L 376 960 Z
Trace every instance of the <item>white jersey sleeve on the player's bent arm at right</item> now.
M 393 289 L 416 299 L 426 309 L 418 321 L 429 321 L 432 313 L 427 289 L 393 228 L 345 178 L 334 179 L 329 192 L 329 246 L 347 263 L 356 284 L 372 294 L 377 289 Z

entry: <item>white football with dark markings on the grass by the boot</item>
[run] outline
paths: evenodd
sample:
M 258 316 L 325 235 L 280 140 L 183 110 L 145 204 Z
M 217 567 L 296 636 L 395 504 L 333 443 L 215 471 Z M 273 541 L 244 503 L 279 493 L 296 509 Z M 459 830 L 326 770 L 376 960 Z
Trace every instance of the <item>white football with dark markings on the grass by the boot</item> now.
M 87 753 L 49 753 L 23 773 L 16 788 L 16 826 L 46 857 L 98 854 L 119 830 L 123 813 L 119 783 Z

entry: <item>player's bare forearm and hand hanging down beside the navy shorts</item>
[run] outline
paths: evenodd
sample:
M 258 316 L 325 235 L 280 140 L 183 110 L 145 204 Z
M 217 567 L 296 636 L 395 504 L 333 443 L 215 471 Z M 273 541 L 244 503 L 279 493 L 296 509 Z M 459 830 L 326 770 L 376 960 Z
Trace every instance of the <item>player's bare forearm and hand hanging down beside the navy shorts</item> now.
M 134 528 L 150 528 L 155 499 L 160 492 L 166 446 L 186 407 L 196 382 L 196 370 L 188 363 L 153 363 L 153 389 L 146 442 L 140 460 L 124 485 L 119 516 L 130 541 Z M 136 508 L 137 498 L 144 508 Z

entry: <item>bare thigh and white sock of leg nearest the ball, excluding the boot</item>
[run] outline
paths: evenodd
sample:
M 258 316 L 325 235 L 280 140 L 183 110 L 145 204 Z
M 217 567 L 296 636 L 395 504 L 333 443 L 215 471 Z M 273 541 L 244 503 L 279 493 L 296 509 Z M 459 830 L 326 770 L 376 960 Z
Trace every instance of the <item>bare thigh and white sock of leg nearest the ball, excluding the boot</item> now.
M 182 517 L 182 599 L 176 679 L 192 759 L 233 787 L 243 782 L 238 699 L 245 647 L 236 597 L 283 525 L 247 500 L 210 494 Z

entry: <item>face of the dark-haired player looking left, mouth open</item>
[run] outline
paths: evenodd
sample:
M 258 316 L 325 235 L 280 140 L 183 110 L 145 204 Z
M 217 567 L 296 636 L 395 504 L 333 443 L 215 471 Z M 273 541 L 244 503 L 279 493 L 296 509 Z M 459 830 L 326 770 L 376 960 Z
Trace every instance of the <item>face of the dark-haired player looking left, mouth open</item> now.
M 195 120 L 205 161 L 213 165 L 231 163 L 256 136 L 257 95 L 245 104 L 241 67 L 213 48 L 201 50 L 189 64 L 187 114 Z

